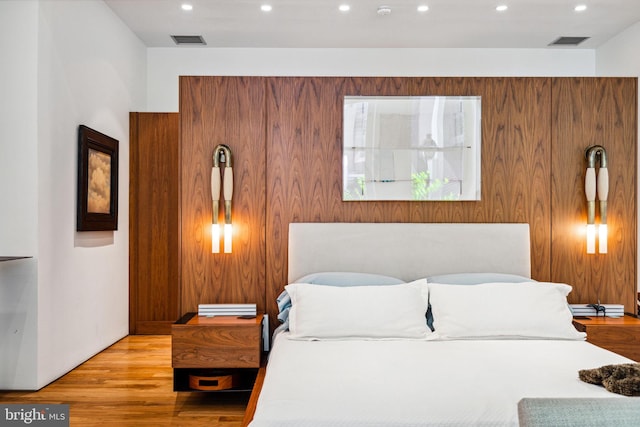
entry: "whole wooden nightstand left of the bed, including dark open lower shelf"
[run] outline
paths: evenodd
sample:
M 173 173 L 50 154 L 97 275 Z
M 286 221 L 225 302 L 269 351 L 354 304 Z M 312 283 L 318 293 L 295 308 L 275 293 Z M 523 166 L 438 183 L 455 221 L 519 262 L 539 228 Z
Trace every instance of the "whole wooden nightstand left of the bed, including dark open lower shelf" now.
M 262 318 L 188 313 L 171 325 L 174 391 L 251 391 L 262 361 Z

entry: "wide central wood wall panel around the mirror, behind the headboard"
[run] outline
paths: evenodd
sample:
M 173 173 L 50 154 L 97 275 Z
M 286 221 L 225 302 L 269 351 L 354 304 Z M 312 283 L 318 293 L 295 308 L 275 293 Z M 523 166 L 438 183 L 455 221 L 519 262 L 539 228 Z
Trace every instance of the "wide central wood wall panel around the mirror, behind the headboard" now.
M 550 278 L 549 79 L 271 78 L 267 302 L 287 281 L 290 222 L 527 222 L 532 273 Z M 343 202 L 345 95 L 481 95 L 482 200 Z M 273 313 L 271 313 L 273 314 Z

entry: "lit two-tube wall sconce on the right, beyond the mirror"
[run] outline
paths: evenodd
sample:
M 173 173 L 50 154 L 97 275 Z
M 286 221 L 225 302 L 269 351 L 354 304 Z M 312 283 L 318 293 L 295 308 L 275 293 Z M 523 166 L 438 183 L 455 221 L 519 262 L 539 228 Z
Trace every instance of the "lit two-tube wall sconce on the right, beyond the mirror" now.
M 596 253 L 596 193 L 600 202 L 600 225 L 598 226 L 598 252 L 607 253 L 607 197 L 609 195 L 609 171 L 607 152 L 601 145 L 592 145 L 585 152 L 587 173 L 584 178 L 584 192 L 587 196 L 587 253 Z M 600 159 L 600 169 L 596 179 L 596 161 Z

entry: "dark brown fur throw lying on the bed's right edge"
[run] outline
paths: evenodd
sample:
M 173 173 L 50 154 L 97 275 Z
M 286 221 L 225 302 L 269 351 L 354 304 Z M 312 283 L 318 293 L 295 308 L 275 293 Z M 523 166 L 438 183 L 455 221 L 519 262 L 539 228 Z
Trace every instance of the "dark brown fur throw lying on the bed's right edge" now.
M 607 391 L 625 396 L 640 396 L 640 363 L 605 365 L 582 369 L 580 379 L 589 384 L 603 385 Z

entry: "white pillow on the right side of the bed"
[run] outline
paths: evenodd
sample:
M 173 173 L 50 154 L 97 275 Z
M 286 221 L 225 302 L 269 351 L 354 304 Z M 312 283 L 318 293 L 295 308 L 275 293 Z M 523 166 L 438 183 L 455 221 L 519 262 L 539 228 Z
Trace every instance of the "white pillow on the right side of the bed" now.
M 430 283 L 429 302 L 440 339 L 537 338 L 584 340 L 572 324 L 563 283 Z

